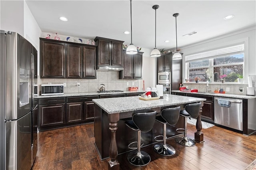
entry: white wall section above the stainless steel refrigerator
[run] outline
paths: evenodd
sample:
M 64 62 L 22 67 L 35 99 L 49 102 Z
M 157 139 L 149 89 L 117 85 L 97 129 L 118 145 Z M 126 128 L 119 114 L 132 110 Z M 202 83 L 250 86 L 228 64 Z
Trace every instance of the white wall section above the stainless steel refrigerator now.
M 18 32 L 24 36 L 24 3 L 22 0 L 0 0 L 1 30 Z

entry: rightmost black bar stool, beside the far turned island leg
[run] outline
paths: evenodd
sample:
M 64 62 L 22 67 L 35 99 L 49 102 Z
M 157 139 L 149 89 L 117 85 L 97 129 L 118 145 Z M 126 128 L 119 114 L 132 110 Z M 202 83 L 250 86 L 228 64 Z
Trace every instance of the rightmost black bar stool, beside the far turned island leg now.
M 180 111 L 180 116 L 185 117 L 185 126 L 184 126 L 184 128 L 176 129 L 176 132 L 184 133 L 184 137 L 179 137 L 179 138 L 175 139 L 176 142 L 178 142 L 178 144 L 181 144 L 183 146 L 195 146 L 196 145 L 196 142 L 194 140 L 187 137 L 187 119 L 188 119 L 188 117 L 197 119 L 198 115 L 199 115 L 200 108 L 201 108 L 201 102 L 192 103 L 192 104 L 186 105 L 185 109 Z M 179 131 L 179 130 L 184 130 L 184 132 Z

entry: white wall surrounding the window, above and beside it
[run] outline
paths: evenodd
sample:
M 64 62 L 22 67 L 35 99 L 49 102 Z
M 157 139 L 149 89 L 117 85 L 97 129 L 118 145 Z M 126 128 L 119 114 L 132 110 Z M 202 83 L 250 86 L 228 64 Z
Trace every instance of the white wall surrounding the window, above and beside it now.
M 183 76 L 185 76 L 185 59 L 186 55 L 190 55 L 193 53 L 198 53 L 201 51 L 207 51 L 210 49 L 216 49 L 219 47 L 232 45 L 232 43 L 242 42 L 244 41 L 245 44 L 245 77 L 248 75 L 256 75 L 256 27 L 245 28 L 243 30 L 238 30 L 236 32 L 232 32 L 230 34 L 225 34 L 223 36 L 219 36 L 216 38 L 212 38 L 203 42 L 195 43 L 192 45 L 188 45 L 185 47 L 180 47 L 183 53 Z M 183 79 L 184 80 L 184 79 Z M 247 83 L 247 79 L 245 80 Z

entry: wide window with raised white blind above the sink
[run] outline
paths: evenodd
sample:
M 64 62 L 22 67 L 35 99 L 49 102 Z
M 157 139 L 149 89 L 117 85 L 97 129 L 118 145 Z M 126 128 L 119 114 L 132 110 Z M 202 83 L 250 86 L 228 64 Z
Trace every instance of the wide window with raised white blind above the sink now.
M 194 81 L 236 82 L 244 75 L 244 44 L 186 56 L 186 77 Z

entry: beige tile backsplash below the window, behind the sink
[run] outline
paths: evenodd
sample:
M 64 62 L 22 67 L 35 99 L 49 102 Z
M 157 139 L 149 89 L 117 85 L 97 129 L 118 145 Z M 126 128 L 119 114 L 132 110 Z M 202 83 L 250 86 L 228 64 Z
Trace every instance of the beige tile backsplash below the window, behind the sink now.
M 255 81 L 256 81 L 256 75 L 250 75 L 252 76 L 252 85 L 255 88 L 255 94 L 256 94 L 256 87 L 255 87 Z M 198 91 L 206 92 L 206 83 L 183 83 L 184 87 L 188 86 L 188 89 L 198 89 Z M 240 92 L 239 88 L 242 87 L 243 91 Z M 235 95 L 246 95 L 246 91 L 248 84 L 229 84 L 229 83 L 209 83 L 209 89 L 210 92 L 214 92 L 216 88 L 220 89 L 222 88 L 225 93 L 228 94 L 235 94 Z M 227 88 L 229 88 L 229 91 L 227 91 Z

